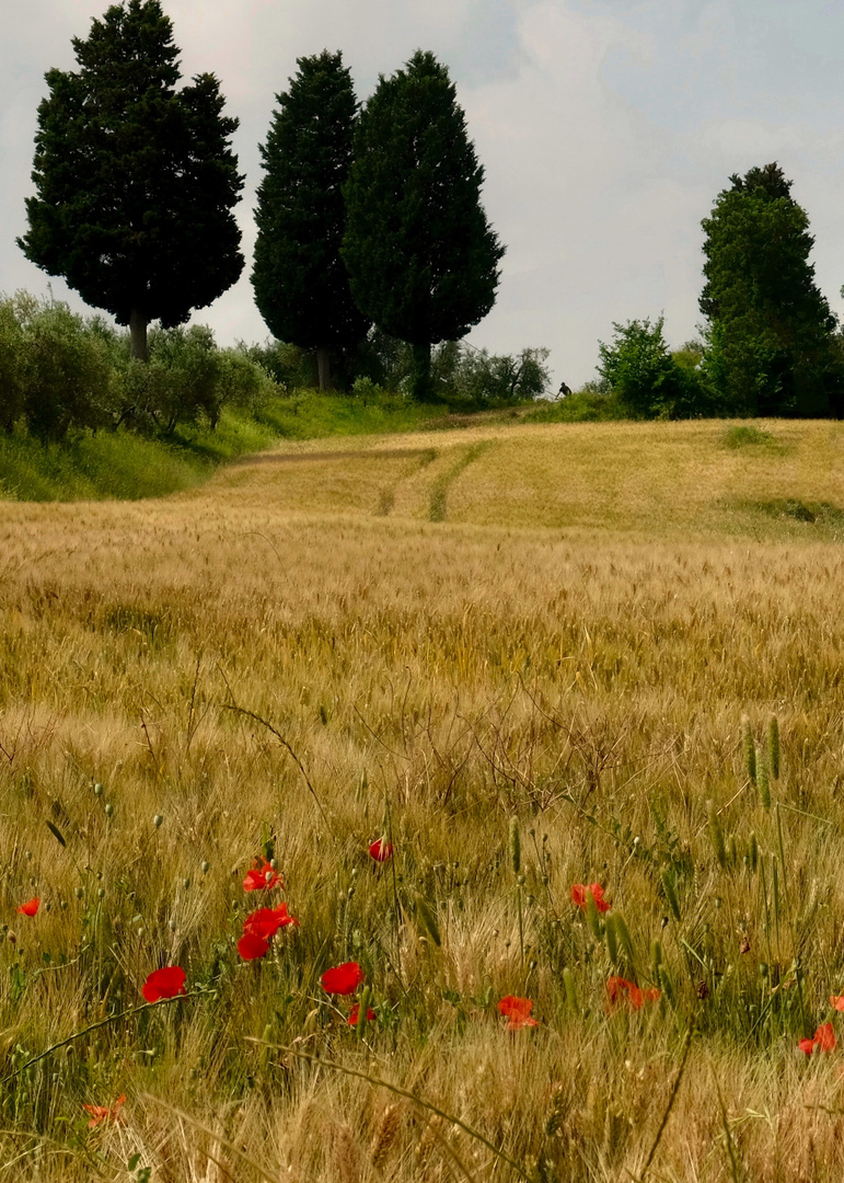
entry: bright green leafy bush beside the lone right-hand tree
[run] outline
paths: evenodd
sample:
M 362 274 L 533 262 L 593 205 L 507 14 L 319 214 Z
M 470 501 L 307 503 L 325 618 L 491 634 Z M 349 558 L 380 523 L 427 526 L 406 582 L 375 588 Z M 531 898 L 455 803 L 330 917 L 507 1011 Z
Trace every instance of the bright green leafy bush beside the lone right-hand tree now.
M 694 361 L 695 353 L 673 356 L 663 337 L 664 317 L 654 323 L 612 325 L 615 340 L 599 343 L 598 373 L 635 419 L 688 419 L 712 414 L 713 400 Z

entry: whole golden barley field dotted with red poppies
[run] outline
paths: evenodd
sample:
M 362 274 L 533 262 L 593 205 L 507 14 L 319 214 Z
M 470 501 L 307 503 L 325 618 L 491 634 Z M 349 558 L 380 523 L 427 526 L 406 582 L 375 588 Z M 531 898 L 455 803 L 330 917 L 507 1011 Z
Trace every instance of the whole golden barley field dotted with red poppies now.
M 822 422 L 0 502 L 2 1177 L 839 1181 L 843 539 Z

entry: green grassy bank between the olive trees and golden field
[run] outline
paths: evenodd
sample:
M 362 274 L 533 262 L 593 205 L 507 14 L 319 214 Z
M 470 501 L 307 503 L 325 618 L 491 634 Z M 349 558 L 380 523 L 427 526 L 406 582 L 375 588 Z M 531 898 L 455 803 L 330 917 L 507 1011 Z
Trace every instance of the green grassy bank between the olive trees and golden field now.
M 44 444 L 24 431 L 0 434 L 0 499 L 76 502 L 165 497 L 201 484 L 228 460 L 280 439 L 405 432 L 446 415 L 442 406 L 397 395 L 361 400 L 301 392 L 252 413 L 227 409 L 216 428 L 184 426 L 170 439 L 135 432 L 77 432 Z

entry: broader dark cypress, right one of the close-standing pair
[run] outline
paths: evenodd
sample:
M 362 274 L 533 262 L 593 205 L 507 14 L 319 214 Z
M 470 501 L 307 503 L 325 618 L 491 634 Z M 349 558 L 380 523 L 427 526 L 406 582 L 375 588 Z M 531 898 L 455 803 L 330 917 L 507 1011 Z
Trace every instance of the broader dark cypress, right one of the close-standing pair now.
M 466 336 L 495 302 L 504 247 L 482 181 L 448 71 L 417 51 L 358 119 L 343 245 L 358 308 L 413 347 L 417 397 L 430 393 L 431 344 Z

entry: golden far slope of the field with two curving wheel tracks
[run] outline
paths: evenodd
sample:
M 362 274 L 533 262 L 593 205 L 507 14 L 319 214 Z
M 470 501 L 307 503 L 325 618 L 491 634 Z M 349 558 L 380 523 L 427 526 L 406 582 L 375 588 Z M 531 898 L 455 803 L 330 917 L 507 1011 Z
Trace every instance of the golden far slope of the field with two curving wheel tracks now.
M 844 532 L 844 425 L 498 422 L 307 441 L 218 474 L 220 497 L 381 515 L 644 536 Z

